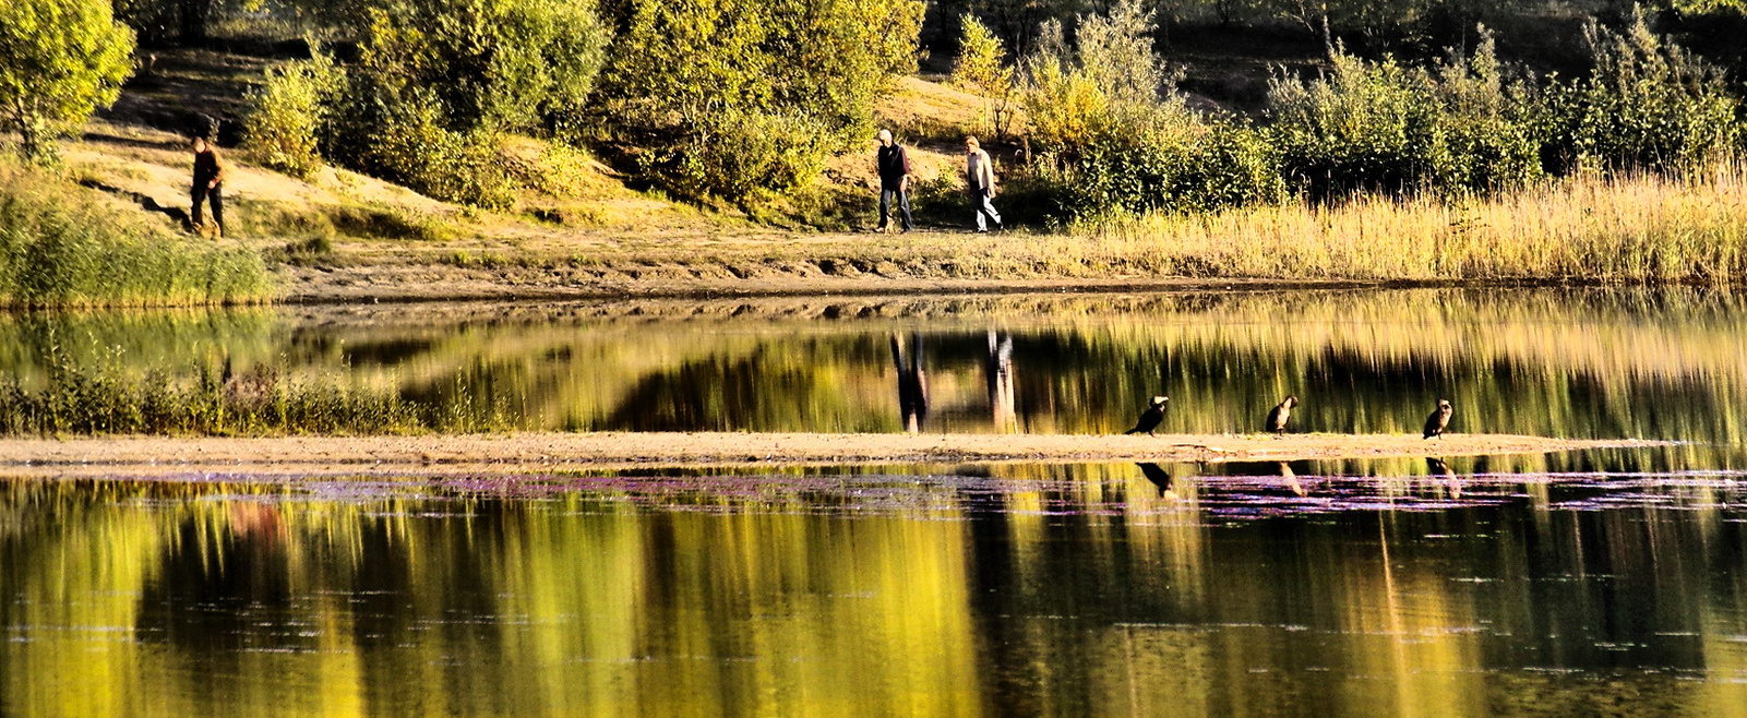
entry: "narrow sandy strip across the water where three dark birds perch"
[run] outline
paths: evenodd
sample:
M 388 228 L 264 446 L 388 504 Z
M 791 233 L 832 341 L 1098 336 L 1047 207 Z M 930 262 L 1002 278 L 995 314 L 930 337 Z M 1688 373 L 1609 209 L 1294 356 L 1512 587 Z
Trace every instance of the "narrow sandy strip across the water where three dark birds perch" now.
M 169 475 L 190 472 L 517 473 L 566 468 L 1289 461 L 1394 456 L 1494 456 L 1653 447 L 1649 440 L 1516 435 L 879 435 L 879 433 L 512 433 L 280 438 L 5 438 L 0 475 Z

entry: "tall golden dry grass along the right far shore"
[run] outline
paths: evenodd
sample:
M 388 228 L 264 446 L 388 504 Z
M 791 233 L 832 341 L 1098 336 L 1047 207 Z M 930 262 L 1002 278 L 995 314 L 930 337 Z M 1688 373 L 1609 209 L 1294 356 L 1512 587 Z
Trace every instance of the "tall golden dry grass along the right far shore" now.
M 1060 250 L 1162 274 L 1281 280 L 1703 281 L 1747 278 L 1747 166 L 1576 176 L 1494 197 L 1150 215 L 1074 225 Z

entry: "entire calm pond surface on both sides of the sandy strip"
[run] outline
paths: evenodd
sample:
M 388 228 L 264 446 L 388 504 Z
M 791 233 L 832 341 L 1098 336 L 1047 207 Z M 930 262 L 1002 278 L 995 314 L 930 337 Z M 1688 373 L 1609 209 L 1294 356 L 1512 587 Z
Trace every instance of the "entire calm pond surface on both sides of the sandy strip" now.
M 1298 393 L 1314 431 L 1410 430 L 1448 397 L 1455 431 L 1686 444 L 0 479 L 0 713 L 1747 715 L 1744 309 L 1420 290 L 3 316 L 24 386 L 229 360 L 517 426 L 1092 433 L 1169 393 L 1165 430 L 1249 431 Z

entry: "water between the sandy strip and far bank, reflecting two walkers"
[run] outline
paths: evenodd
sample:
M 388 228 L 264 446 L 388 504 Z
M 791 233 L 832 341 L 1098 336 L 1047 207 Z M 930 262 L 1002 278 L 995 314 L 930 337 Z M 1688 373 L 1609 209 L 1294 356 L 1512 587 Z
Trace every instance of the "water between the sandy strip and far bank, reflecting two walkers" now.
M 1293 431 L 1408 433 L 1448 398 L 1457 431 L 1737 444 L 1742 335 L 1684 288 L 280 307 L 3 314 L 0 379 L 229 358 L 557 430 L 1116 433 L 1169 395 L 1160 431 L 1251 433 L 1296 395 Z

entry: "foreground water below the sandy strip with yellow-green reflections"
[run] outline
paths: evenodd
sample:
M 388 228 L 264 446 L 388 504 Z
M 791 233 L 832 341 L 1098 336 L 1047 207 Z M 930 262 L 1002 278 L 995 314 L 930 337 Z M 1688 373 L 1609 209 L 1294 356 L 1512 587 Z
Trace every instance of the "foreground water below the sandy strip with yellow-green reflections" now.
M 1742 475 L 1338 466 L 12 480 L 0 709 L 1747 706 Z

